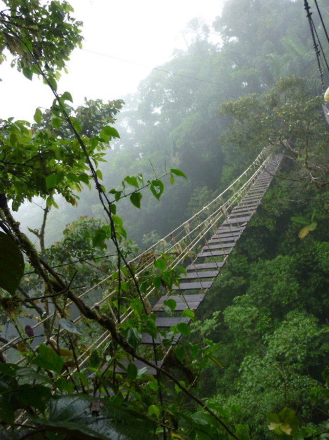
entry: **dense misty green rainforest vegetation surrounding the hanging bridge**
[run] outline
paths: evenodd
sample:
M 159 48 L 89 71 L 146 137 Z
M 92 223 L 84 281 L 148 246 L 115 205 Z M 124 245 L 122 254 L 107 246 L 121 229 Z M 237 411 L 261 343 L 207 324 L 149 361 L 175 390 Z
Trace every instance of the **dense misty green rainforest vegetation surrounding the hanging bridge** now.
M 329 130 L 303 1 L 226 0 L 136 93 L 78 108 L 59 90 L 79 17 L 66 1 L 3 3 L 0 62 L 54 101 L 0 120 L 0 438 L 328 439 Z M 328 57 L 329 4 L 309 3 Z M 143 276 L 129 261 L 267 146 L 284 154 L 274 184 L 154 365 L 144 295 L 184 268 L 165 249 Z

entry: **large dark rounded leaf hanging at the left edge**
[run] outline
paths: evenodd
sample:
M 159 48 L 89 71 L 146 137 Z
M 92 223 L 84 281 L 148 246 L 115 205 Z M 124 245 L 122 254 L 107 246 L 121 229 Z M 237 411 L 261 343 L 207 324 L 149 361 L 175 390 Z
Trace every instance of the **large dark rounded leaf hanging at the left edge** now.
M 0 287 L 14 295 L 24 274 L 24 258 L 20 248 L 4 232 L 0 232 Z

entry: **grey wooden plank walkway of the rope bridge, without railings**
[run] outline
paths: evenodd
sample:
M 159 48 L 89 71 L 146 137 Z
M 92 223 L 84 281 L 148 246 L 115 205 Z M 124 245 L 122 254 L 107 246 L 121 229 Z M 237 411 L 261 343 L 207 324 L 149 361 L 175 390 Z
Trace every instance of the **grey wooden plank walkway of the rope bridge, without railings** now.
M 178 294 L 164 295 L 153 306 L 152 312 L 157 314 L 155 324 L 159 329 L 168 329 L 179 323 L 188 324 L 190 322 L 189 318 L 184 318 L 181 316 L 181 313 L 178 314 L 177 312 L 181 312 L 186 308 L 197 310 L 200 306 L 206 291 L 212 286 L 214 279 L 225 264 L 227 256 L 260 205 L 280 165 L 281 159 L 282 155 L 272 157 L 264 171 L 255 179 L 247 194 L 233 208 L 231 213 L 227 215 L 226 219 L 201 248 L 200 252 L 196 254 L 195 261 L 185 267 L 187 274 L 182 275 L 179 286 L 172 287 L 172 291 Z M 168 309 L 165 306 L 165 301 L 168 299 L 176 301 L 176 309 L 171 313 L 172 316 L 163 316 L 165 310 Z M 156 338 L 152 338 L 149 334 L 143 333 L 142 344 L 161 344 L 165 340 L 167 345 L 175 345 L 181 337 L 180 333 L 171 335 L 169 332 L 166 336 L 163 334 L 159 333 Z

